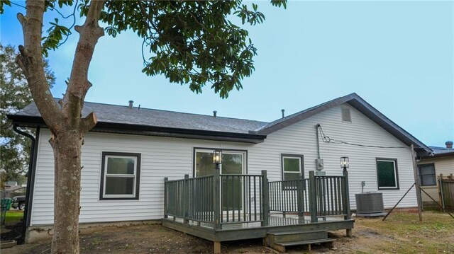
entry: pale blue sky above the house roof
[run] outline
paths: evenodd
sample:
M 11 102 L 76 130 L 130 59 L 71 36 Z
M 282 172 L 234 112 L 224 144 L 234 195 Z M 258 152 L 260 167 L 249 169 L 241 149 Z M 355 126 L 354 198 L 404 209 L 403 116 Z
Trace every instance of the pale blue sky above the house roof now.
M 219 116 L 272 121 L 282 108 L 289 115 L 355 92 L 425 144 L 444 146 L 454 139 L 453 3 L 289 1 L 284 10 L 260 1 L 265 23 L 245 25 L 258 48 L 255 72 L 226 100 L 209 88 L 196 95 L 162 76 L 145 76 L 138 37 L 104 36 L 86 100 L 134 100 L 142 108 L 206 115 L 217 110 Z M 24 10 L 6 7 L 1 16 L 4 45 L 23 43 L 18 11 Z M 77 37 L 50 52 L 55 97 L 65 92 Z

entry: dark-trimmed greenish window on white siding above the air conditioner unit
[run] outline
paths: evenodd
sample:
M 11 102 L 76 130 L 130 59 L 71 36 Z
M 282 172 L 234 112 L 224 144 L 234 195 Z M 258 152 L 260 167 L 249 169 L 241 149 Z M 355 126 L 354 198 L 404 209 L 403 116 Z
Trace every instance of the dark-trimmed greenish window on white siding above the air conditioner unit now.
M 398 190 L 397 159 L 377 158 L 378 190 Z

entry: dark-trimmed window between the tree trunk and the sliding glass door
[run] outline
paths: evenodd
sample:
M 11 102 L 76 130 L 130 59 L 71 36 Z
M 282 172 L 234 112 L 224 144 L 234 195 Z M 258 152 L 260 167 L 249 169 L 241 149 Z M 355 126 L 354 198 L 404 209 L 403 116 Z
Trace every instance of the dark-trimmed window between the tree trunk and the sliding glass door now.
M 138 200 L 140 154 L 102 153 L 100 200 Z

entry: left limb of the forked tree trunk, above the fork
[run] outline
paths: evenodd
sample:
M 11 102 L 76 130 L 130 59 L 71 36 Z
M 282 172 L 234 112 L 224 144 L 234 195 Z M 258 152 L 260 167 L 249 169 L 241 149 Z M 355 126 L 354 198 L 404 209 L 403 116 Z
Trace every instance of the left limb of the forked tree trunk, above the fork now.
M 27 1 L 26 17 L 18 13 L 22 25 L 24 45 L 19 46 L 16 62 L 23 70 L 28 81 L 33 100 L 51 131 L 62 126 L 62 112 L 55 103 L 48 80 L 45 78 L 44 61 L 41 53 L 41 34 L 43 29 L 44 1 Z

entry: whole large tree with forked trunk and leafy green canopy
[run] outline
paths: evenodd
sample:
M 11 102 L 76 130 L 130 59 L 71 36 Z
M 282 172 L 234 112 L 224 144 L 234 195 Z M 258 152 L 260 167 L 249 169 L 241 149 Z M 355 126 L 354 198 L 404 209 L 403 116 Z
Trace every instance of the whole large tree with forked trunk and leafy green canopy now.
M 284 0 L 271 2 L 286 6 Z M 9 0 L 0 1 L 0 13 L 4 5 L 11 4 Z M 60 12 L 71 7 L 70 16 Z M 85 18 L 82 25 L 75 25 L 77 8 Z M 65 26 L 55 18 L 50 28 L 43 31 L 44 16 L 49 13 L 72 17 L 74 22 Z M 243 78 L 252 74 L 253 57 L 257 54 L 248 31 L 239 25 L 255 25 L 265 20 L 256 4 L 239 0 L 34 0 L 26 1 L 26 16 L 18 13 L 17 18 L 23 28 L 24 45 L 18 47 L 16 62 L 23 69 L 33 100 L 52 133 L 50 144 L 55 157 L 52 253 L 79 253 L 82 144 L 84 135 L 97 122 L 96 112 L 82 117 L 82 108 L 92 86 L 88 71 L 99 37 L 104 33 L 115 37 L 133 30 L 143 39 L 145 74 L 163 74 L 170 82 L 187 84 L 196 93 L 208 85 L 221 98 L 227 98 L 233 88 L 242 88 Z M 67 90 L 57 104 L 50 93 L 43 55 L 57 50 L 72 30 L 79 33 L 79 39 Z M 114 57 L 115 52 L 112 54 Z

